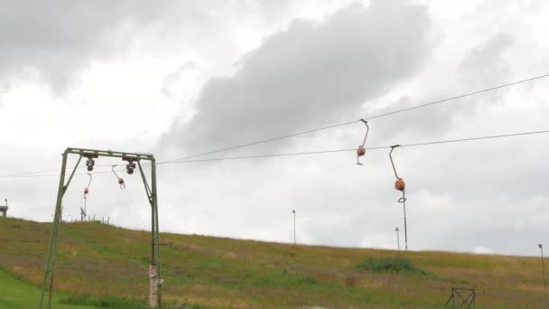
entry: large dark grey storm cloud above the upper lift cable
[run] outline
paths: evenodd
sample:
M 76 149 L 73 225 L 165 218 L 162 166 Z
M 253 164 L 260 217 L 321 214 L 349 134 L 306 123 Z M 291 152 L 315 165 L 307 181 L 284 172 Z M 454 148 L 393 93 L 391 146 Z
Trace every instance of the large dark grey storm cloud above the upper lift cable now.
M 325 22 L 296 20 L 204 86 L 198 113 L 164 143 L 209 148 L 358 117 L 368 99 L 414 75 L 427 53 L 430 19 L 421 5 L 373 1 Z

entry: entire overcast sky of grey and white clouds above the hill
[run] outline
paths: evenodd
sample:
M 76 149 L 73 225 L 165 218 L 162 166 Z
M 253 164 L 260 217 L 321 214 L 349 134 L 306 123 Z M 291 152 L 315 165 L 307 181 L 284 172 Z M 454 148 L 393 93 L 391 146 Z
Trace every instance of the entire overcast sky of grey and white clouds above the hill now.
M 549 73 L 549 4 L 0 0 L 0 199 L 50 221 L 67 147 L 169 161 Z M 549 130 L 549 78 L 368 122 L 366 147 Z M 354 149 L 354 122 L 194 159 Z M 408 248 L 536 256 L 549 246 L 549 136 L 396 148 Z M 161 231 L 404 245 L 388 149 L 158 165 Z M 70 158 L 70 165 L 76 163 Z M 150 229 L 137 173 L 99 158 L 88 214 Z M 31 173 L 23 176 L 12 174 Z M 63 200 L 79 218 L 85 167 Z M 144 167 L 145 173 L 150 168 Z

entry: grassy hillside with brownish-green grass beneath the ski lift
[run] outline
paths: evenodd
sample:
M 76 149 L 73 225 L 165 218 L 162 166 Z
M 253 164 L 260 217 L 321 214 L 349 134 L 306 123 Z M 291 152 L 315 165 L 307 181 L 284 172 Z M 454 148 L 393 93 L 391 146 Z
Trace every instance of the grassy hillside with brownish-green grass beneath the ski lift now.
M 17 295 L 27 295 L 24 304 L 37 304 L 50 233 L 48 223 L 0 218 L 0 267 L 10 274 L 0 272 L 0 306 L 21 298 Z M 539 257 L 402 252 L 401 265 L 391 250 L 168 233 L 161 234 L 161 243 L 163 300 L 170 304 L 437 308 L 451 295 L 451 286 L 475 287 L 479 307 L 546 304 Z M 150 248 L 150 232 L 95 222 L 61 224 L 56 300 L 103 306 L 119 300 L 124 307 L 131 299 L 135 303 L 127 307 L 144 304 Z M 397 264 L 403 267 L 397 269 Z M 12 287 L 5 292 L 5 286 Z

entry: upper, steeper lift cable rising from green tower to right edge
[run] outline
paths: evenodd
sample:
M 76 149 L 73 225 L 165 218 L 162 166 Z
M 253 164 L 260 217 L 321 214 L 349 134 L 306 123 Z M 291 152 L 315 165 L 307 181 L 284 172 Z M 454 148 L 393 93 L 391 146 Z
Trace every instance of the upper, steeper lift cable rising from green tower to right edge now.
M 549 77 L 549 74 L 536 76 L 536 77 L 529 78 L 529 79 L 526 79 L 526 80 L 516 80 L 516 81 L 510 82 L 510 83 L 507 83 L 507 84 L 503 84 L 503 85 L 499 85 L 499 86 L 496 86 L 496 87 L 492 87 L 492 88 L 488 88 L 488 89 L 481 89 L 481 90 L 469 92 L 469 93 L 466 93 L 466 94 L 462 94 L 462 95 L 459 95 L 459 96 L 451 97 L 451 98 L 444 98 L 444 99 L 440 99 L 440 100 L 437 100 L 437 101 L 416 105 L 416 106 L 411 107 L 411 108 L 398 109 L 398 110 L 395 110 L 395 111 L 392 111 L 392 112 L 379 114 L 379 115 L 372 116 L 372 117 L 367 117 L 367 118 L 364 118 L 364 120 L 371 120 L 371 119 L 376 119 L 376 118 L 380 118 L 380 117 L 386 117 L 386 116 L 390 116 L 390 115 L 404 113 L 404 112 L 409 111 L 409 110 L 413 110 L 413 109 L 417 109 L 417 108 L 425 108 L 425 107 L 433 106 L 433 105 L 436 105 L 436 104 L 441 104 L 441 103 L 444 103 L 444 102 L 455 100 L 455 99 L 458 99 L 458 98 L 466 98 L 466 97 L 474 96 L 474 95 L 477 95 L 477 94 L 480 94 L 480 93 L 483 93 L 483 92 L 489 92 L 489 91 L 493 91 L 493 90 L 496 90 L 496 89 L 502 89 L 502 88 L 514 86 L 514 85 L 517 85 L 517 84 L 525 83 L 525 82 L 528 82 L 528 81 L 532 81 L 532 80 L 540 80 L 540 79 L 544 79 L 546 77 Z M 324 126 L 324 127 L 320 127 L 320 128 L 312 129 L 312 130 L 308 130 L 308 131 L 297 132 L 297 133 L 289 134 L 289 135 L 286 135 L 286 136 L 273 137 L 273 138 L 268 138 L 268 139 L 252 142 L 252 143 L 236 145 L 236 146 L 231 146 L 231 147 L 227 147 L 227 148 L 220 148 L 218 150 L 212 150 L 212 151 L 197 154 L 197 155 L 189 155 L 189 156 L 181 157 L 181 158 L 178 158 L 178 159 L 172 159 L 172 160 L 168 160 L 168 161 L 159 162 L 157 164 L 167 164 L 167 163 L 172 163 L 172 162 L 176 162 L 176 161 L 191 159 L 191 158 L 194 158 L 194 157 L 197 157 L 197 156 L 211 155 L 211 154 L 216 154 L 216 153 L 220 153 L 220 152 L 225 152 L 225 151 L 228 151 L 228 150 L 234 150 L 234 149 L 237 149 L 237 148 L 243 148 L 243 147 L 247 147 L 247 146 L 250 146 L 250 145 L 258 145 L 258 144 L 273 142 L 273 141 L 288 138 L 288 137 L 301 136 L 301 135 L 304 135 L 304 134 L 319 132 L 319 131 L 322 131 L 322 130 L 326 130 L 326 129 L 330 129 L 330 128 L 334 128 L 334 127 L 338 127 L 338 126 L 347 126 L 347 125 L 350 125 L 350 124 L 353 124 L 353 123 L 359 122 L 359 121 L 360 121 L 360 119 L 349 121 L 349 122 L 344 122 L 344 123 L 337 124 L 337 125 L 332 125 L 332 126 Z

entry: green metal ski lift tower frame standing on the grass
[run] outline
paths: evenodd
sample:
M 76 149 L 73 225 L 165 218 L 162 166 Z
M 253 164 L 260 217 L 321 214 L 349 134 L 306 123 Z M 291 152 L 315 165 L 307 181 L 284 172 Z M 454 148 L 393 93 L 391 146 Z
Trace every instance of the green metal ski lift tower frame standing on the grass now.
M 70 177 L 65 183 L 65 175 L 67 172 L 67 159 L 69 155 L 79 155 L 77 164 L 74 166 Z M 127 161 L 129 165 L 132 165 L 134 162 L 139 165 L 139 172 L 141 173 L 141 178 L 143 179 L 144 189 L 147 194 L 147 198 L 151 205 L 151 266 L 149 268 L 150 276 L 150 295 L 149 295 L 149 304 L 152 307 L 161 306 L 161 286 L 162 279 L 160 276 L 160 241 L 158 236 L 158 196 L 156 194 L 156 161 L 154 155 L 142 154 L 142 153 L 126 153 L 126 152 L 116 152 L 116 151 L 103 151 L 103 150 L 92 150 L 92 149 L 80 149 L 80 148 L 67 148 L 62 154 L 62 164 L 61 164 L 61 173 L 60 173 L 60 182 L 59 189 L 57 192 L 57 202 L 55 204 L 55 214 L 53 216 L 53 222 L 51 225 L 51 240 L 50 248 L 48 249 L 48 257 L 46 262 L 46 267 L 44 270 L 44 278 L 42 283 L 42 294 L 40 297 L 40 309 L 51 308 L 51 294 L 53 292 L 53 277 L 55 270 L 55 259 L 57 256 L 57 236 L 60 225 L 61 218 L 61 203 L 63 196 L 69 189 L 70 181 L 72 180 L 74 174 L 76 173 L 79 163 L 82 160 L 82 157 L 88 158 L 88 163 L 91 162 L 91 169 L 93 169 L 93 159 L 103 157 L 114 157 L 120 158 L 124 161 Z M 151 164 L 151 186 L 146 180 L 141 161 L 148 161 Z M 88 165 L 88 171 L 91 171 Z M 129 166 L 126 165 L 126 166 Z M 135 165 L 134 165 L 135 166 Z M 130 171 L 128 171 L 130 173 Z M 131 171 L 133 173 L 133 170 Z M 48 300 L 44 302 L 44 295 L 48 291 Z

